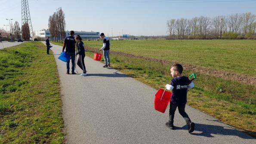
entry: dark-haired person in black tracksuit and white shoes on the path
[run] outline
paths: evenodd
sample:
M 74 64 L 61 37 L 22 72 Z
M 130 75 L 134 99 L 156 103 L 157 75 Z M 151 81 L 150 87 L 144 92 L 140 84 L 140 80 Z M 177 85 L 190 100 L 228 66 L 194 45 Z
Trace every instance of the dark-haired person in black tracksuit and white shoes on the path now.
M 86 76 L 86 68 L 84 64 L 84 57 L 85 57 L 85 50 L 84 50 L 84 44 L 82 42 L 82 38 L 80 35 L 77 35 L 75 37 L 75 40 L 77 41 L 77 53 L 76 55 L 79 55 L 77 60 L 77 65 L 83 70 L 83 74 L 80 74 L 80 76 Z

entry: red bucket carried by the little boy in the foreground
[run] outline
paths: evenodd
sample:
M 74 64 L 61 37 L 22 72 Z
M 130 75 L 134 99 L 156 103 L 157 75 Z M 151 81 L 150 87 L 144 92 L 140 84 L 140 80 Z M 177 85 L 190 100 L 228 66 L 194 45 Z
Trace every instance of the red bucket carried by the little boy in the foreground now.
M 155 98 L 154 98 L 154 109 L 157 111 L 160 111 L 161 113 L 165 112 L 172 95 L 171 92 L 165 91 L 164 94 L 163 92 L 164 92 L 163 89 L 159 89 L 155 94 Z

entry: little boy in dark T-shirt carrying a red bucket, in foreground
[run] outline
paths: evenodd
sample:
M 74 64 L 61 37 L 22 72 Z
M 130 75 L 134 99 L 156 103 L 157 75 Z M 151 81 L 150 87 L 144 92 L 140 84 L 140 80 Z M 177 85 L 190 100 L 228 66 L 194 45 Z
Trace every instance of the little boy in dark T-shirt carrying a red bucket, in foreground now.
M 171 101 L 170 101 L 170 113 L 169 113 L 169 122 L 166 123 L 166 126 L 170 129 L 175 129 L 173 126 L 173 119 L 176 108 L 178 107 L 179 113 L 185 119 L 188 125 L 188 132 L 191 133 L 194 131 L 194 123 L 191 122 L 188 114 L 185 112 L 185 105 L 187 103 L 187 92 L 188 89 L 194 87 L 188 77 L 182 76 L 183 67 L 181 64 L 173 64 L 171 67 L 171 74 L 173 79 L 171 80 L 170 85 L 167 84 L 165 87 L 168 90 L 173 90 Z

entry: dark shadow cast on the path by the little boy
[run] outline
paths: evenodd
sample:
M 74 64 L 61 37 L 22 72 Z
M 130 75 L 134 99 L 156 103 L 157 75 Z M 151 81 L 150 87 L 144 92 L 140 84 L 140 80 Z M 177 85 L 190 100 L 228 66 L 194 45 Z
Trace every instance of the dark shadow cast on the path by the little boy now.
M 185 129 L 188 130 L 188 126 L 182 126 L 182 127 L 176 127 L 176 129 Z M 214 135 L 234 135 L 238 136 L 240 138 L 244 139 L 254 139 L 250 135 L 247 135 L 244 132 L 238 131 L 236 129 L 233 129 L 231 127 L 226 127 L 226 126 L 214 126 L 214 125 L 206 125 L 206 124 L 200 124 L 200 123 L 195 123 L 195 131 L 199 131 L 201 133 L 191 133 L 191 135 L 198 135 L 198 136 L 204 136 L 204 137 L 209 137 L 212 138 Z M 194 131 L 194 132 L 195 132 Z

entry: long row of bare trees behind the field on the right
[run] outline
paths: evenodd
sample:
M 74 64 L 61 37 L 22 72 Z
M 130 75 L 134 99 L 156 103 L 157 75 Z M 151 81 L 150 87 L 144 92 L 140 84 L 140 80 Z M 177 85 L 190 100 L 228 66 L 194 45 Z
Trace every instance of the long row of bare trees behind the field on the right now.
M 167 21 L 168 39 L 256 39 L 256 15 L 180 18 Z

